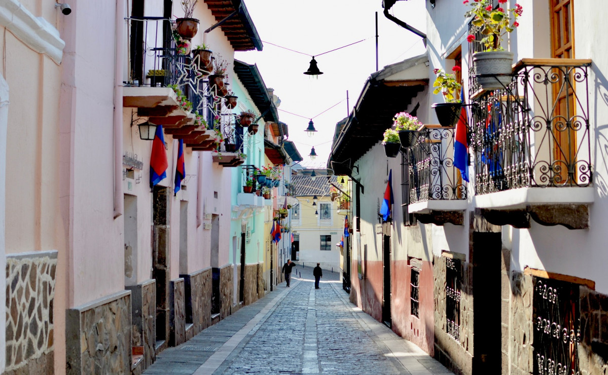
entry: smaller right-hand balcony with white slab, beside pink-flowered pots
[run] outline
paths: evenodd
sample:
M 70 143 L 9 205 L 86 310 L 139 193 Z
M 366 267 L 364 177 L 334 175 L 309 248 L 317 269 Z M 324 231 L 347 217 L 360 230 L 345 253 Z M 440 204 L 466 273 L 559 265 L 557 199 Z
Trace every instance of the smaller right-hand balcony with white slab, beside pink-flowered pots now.
M 455 128 L 424 125 L 404 159 L 409 165 L 407 210 L 424 224 L 462 225 L 467 183 L 454 167 Z

